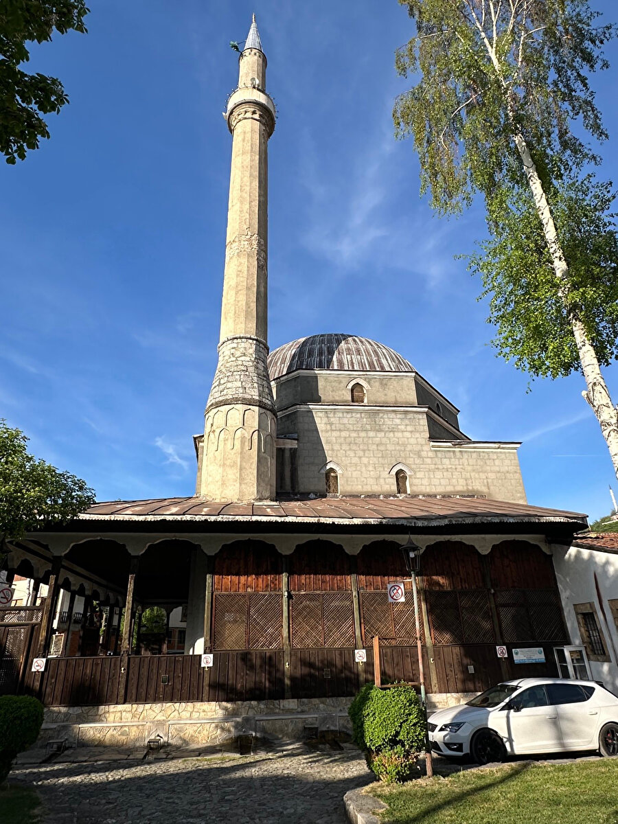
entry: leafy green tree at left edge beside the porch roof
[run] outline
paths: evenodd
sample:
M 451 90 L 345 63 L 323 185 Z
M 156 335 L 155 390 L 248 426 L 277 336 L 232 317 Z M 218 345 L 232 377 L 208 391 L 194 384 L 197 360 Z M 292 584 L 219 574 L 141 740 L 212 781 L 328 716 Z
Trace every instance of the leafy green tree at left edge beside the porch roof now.
M 0 420 L 0 550 L 4 541 L 67 523 L 95 502 L 86 482 L 26 451 L 28 438 Z

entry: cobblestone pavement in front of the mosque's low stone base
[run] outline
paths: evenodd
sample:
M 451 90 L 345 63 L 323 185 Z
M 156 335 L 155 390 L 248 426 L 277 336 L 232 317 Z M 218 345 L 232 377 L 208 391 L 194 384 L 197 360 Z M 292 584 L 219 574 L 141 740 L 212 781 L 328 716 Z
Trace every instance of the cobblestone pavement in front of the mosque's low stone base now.
M 44 824 L 343 824 L 344 794 L 372 780 L 351 745 L 219 758 L 128 757 L 21 764 L 11 779 L 40 793 Z

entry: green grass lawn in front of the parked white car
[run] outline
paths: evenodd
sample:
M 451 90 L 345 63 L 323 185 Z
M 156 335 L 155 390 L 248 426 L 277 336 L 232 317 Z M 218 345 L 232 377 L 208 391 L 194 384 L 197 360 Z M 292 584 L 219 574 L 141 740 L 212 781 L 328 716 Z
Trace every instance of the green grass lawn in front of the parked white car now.
M 393 824 L 618 824 L 618 759 L 466 770 L 372 794 Z

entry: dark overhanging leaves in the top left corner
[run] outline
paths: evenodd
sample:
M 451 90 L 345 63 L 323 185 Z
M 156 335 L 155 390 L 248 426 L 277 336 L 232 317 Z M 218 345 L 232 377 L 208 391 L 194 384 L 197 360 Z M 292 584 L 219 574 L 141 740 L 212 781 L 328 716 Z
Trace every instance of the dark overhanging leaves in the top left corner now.
M 84 0 L 2 0 L 0 4 L 0 152 L 7 163 L 24 160 L 28 149 L 49 138 L 41 115 L 58 113 L 68 103 L 57 77 L 28 74 L 20 68 L 30 59 L 26 43 L 51 40 L 69 30 L 87 31 Z

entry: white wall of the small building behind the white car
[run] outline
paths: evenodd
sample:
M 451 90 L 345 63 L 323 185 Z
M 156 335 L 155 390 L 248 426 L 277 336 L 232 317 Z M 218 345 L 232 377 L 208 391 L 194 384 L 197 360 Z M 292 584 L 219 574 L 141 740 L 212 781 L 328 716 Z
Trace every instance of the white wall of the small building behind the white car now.
M 608 601 L 618 598 L 618 553 L 584 550 L 580 547 L 554 546 L 554 566 L 562 598 L 564 617 L 573 644 L 583 646 L 575 617 L 574 605 L 591 602 L 597 612 L 597 622 L 605 639 L 609 662 L 590 661 L 592 678 L 602 681 L 618 695 L 618 628 Z M 599 602 L 594 574 L 597 574 Z

